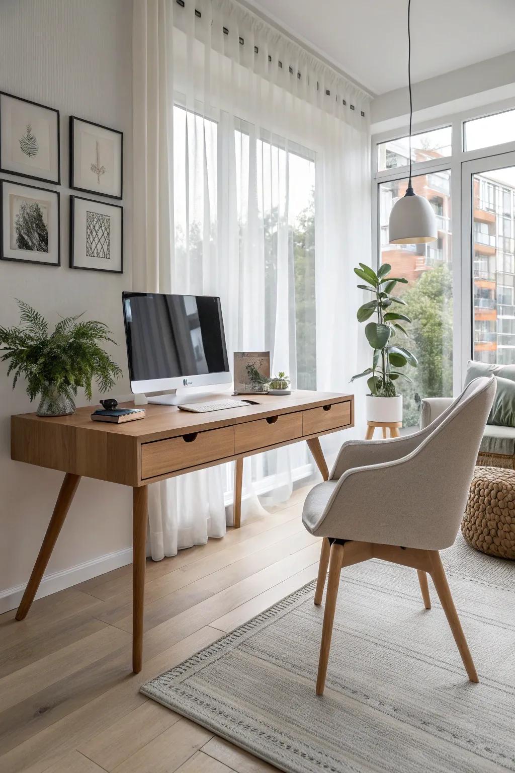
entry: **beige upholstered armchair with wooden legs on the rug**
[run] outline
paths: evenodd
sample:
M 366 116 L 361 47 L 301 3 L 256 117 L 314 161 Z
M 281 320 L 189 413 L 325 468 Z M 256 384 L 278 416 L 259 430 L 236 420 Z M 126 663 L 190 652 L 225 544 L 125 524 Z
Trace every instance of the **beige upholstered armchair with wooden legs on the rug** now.
M 456 539 L 495 393 L 493 376 L 479 378 L 422 431 L 344 443 L 329 480 L 307 495 L 303 524 L 324 537 L 315 604 L 329 566 L 317 695 L 324 693 L 341 569 L 370 558 L 415 568 L 428 609 L 431 575 L 466 673 L 478 681 L 439 550 Z

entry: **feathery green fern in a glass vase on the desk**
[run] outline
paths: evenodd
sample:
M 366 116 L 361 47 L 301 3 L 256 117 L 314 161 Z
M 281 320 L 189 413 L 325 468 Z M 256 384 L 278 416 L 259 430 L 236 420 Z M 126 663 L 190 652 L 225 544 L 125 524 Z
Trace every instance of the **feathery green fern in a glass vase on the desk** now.
M 38 416 L 67 416 L 75 413 L 77 390 L 83 387 L 93 397 L 94 379 L 100 392 L 110 390 L 121 370 L 100 347 L 114 343 L 103 322 L 81 320 L 81 314 L 65 317 L 49 335 L 48 322 L 36 309 L 18 301 L 20 324 L 0 327 L 2 362 L 9 361 L 7 375 L 14 373 L 12 388 L 25 377 L 32 402 L 41 395 Z

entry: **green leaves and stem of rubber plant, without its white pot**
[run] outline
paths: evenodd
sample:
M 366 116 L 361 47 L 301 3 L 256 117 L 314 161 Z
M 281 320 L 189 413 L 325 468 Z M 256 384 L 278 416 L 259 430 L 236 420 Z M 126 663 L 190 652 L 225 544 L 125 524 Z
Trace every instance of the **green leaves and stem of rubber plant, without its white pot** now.
M 364 334 L 371 348 L 372 366 L 352 376 L 351 381 L 362 376 L 368 376 L 368 388 L 374 397 L 395 397 L 395 381 L 399 378 L 412 382 L 409 376 L 401 372 L 406 365 L 418 366 L 417 358 L 412 352 L 400 346 L 397 339 L 399 335 L 406 338 L 408 333 L 402 322 L 412 320 L 400 311 L 395 311 L 396 306 L 405 306 L 405 301 L 397 295 L 391 295 L 398 283 L 408 284 L 408 280 L 400 277 L 391 277 L 391 266 L 382 264 L 376 274 L 370 266 L 360 263 L 354 268 L 354 274 L 367 284 L 358 284 L 361 290 L 372 293 L 373 298 L 357 309 L 357 321 L 366 322 L 372 315 L 377 315 L 377 322 L 368 322 L 365 325 Z

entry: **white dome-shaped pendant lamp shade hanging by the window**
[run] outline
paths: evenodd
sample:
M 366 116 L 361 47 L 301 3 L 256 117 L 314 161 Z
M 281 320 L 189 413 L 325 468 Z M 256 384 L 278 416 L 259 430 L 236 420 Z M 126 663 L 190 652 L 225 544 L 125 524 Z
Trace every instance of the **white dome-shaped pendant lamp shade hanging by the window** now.
M 391 244 L 421 244 L 437 236 L 435 213 L 427 199 L 408 193 L 395 202 L 388 220 Z

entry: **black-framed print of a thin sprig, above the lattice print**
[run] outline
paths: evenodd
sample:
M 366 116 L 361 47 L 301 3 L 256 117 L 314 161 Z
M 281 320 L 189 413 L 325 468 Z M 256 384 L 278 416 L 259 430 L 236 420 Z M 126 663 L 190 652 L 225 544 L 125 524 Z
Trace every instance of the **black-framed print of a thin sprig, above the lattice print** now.
M 69 187 L 108 199 L 123 198 L 123 131 L 70 115 Z

